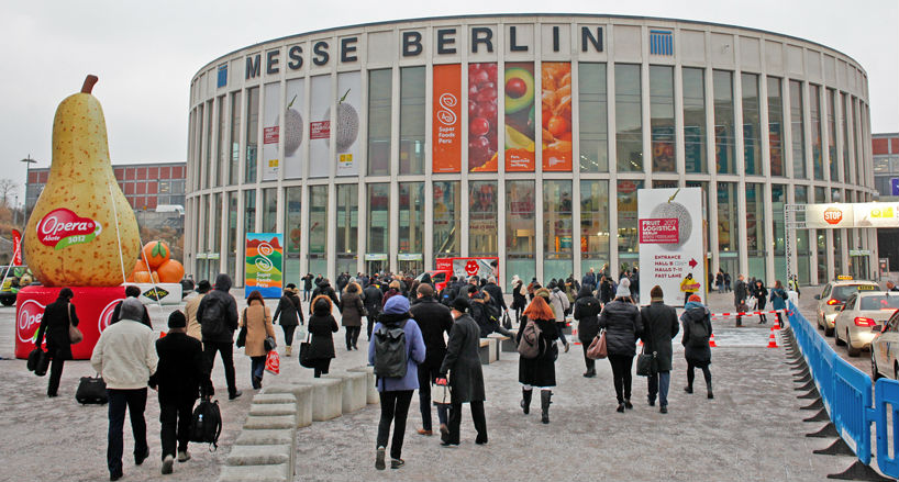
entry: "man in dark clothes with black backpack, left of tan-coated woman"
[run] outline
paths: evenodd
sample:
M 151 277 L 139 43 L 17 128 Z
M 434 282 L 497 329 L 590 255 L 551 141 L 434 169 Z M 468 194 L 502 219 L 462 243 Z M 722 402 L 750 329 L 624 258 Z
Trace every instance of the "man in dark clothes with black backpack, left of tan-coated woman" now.
M 241 396 L 234 380 L 234 330 L 237 329 L 237 302 L 229 293 L 231 277 L 220 273 L 215 289 L 203 296 L 197 307 L 197 321 L 203 336 L 203 356 L 209 371 L 215 362 L 215 352 L 222 356 L 227 383 L 227 400 Z

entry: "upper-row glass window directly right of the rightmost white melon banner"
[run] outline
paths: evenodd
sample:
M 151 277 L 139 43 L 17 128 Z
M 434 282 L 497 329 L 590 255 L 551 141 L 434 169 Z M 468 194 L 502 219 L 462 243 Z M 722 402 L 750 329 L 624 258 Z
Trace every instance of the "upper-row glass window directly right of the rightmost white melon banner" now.
M 368 175 L 390 173 L 391 69 L 368 72 Z

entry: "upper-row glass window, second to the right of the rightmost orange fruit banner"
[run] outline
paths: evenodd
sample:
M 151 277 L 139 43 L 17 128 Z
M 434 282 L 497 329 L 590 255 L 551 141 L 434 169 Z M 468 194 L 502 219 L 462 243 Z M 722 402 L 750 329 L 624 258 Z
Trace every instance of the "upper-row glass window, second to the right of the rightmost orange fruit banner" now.
M 615 156 L 619 172 L 643 170 L 640 65 L 615 64 Z

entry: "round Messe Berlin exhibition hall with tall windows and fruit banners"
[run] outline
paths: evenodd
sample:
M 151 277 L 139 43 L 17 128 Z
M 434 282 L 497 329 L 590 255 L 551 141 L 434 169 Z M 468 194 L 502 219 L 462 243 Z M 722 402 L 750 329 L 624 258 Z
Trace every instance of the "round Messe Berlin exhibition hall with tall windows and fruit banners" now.
M 636 191 L 703 190 L 707 268 L 785 277 L 785 204 L 875 194 L 867 74 L 754 29 L 477 15 L 276 38 L 190 85 L 185 265 L 243 284 L 499 257 L 508 280 L 639 264 Z M 797 232 L 800 282 L 869 277 L 873 229 Z M 502 283 L 507 285 L 508 283 Z

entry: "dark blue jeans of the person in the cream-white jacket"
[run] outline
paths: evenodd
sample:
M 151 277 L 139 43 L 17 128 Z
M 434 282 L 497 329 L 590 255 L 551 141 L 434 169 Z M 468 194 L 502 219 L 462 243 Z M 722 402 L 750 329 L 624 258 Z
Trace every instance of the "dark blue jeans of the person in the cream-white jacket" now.
M 107 446 L 107 466 L 110 474 L 122 473 L 122 428 L 125 424 L 125 407 L 131 415 L 131 430 L 134 433 L 134 455 L 143 456 L 147 451 L 146 389 L 116 390 L 107 389 L 109 396 L 109 434 Z

